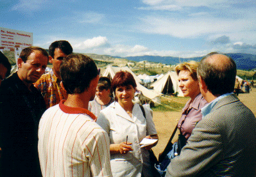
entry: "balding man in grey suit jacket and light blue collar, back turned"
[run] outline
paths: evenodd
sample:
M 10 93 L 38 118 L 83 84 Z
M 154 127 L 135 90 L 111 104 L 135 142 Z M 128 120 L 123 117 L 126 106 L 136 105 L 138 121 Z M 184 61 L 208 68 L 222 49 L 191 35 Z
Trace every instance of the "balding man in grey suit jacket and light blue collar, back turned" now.
M 256 119 L 232 93 L 235 62 L 212 52 L 198 67 L 200 90 L 209 104 L 166 176 L 255 176 Z

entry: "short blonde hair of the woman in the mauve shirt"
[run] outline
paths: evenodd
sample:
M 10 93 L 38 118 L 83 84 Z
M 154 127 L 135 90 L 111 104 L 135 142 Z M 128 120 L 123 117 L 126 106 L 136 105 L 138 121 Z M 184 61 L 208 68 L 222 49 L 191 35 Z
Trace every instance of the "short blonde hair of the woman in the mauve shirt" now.
M 198 75 L 196 73 L 196 71 L 198 70 L 198 62 L 196 61 L 183 62 L 175 67 L 175 72 L 177 73 L 177 75 L 182 70 L 188 70 L 189 72 L 191 72 L 192 79 L 194 79 L 195 81 L 198 80 Z

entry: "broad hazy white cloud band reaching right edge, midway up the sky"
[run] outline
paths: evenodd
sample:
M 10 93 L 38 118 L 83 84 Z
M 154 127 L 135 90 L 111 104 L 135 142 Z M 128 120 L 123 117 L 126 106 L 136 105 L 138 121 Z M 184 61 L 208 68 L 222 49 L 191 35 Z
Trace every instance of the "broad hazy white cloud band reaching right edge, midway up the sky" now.
M 196 38 L 198 36 L 219 33 L 254 33 L 256 19 L 217 19 L 209 17 L 191 17 L 185 19 L 148 16 L 141 19 L 136 27 L 143 33 L 170 35 L 178 38 Z M 250 32 L 251 31 L 251 32 Z

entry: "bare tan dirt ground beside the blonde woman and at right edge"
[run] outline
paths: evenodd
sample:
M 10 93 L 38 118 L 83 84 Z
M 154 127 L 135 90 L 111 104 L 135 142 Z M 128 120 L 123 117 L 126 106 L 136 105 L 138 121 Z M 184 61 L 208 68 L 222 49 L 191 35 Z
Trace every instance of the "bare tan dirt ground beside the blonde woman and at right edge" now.
M 239 94 L 238 98 L 243 102 L 249 109 L 252 110 L 253 114 L 256 115 L 256 88 L 253 88 L 250 93 Z M 166 147 L 173 130 L 180 119 L 182 112 L 159 112 L 153 111 L 153 121 L 157 128 L 157 134 L 159 141 L 157 146 L 153 148 L 155 155 L 158 158 L 158 154 Z M 178 133 L 174 137 L 174 141 L 178 139 Z M 173 141 L 173 142 L 174 142 Z

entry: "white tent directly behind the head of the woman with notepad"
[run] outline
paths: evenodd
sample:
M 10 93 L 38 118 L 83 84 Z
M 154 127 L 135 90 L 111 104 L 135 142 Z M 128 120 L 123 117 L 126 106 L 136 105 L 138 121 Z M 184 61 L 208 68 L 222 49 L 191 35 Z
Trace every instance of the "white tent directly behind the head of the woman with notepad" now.
M 150 90 L 150 89 L 147 89 L 145 88 L 144 86 L 142 86 L 139 82 L 141 81 L 136 75 L 135 73 L 132 72 L 132 70 L 130 70 L 130 68 L 128 68 L 128 66 L 124 66 L 124 67 L 115 67 L 115 66 L 108 66 L 106 68 L 106 70 L 103 72 L 102 76 L 103 77 L 108 77 L 110 78 L 111 80 L 114 78 L 114 75 L 116 72 L 119 72 L 119 71 L 128 71 L 130 73 L 132 73 L 135 81 L 136 81 L 136 84 L 137 84 L 137 89 L 139 91 L 141 91 L 141 93 L 146 96 L 146 98 L 149 98 L 150 100 L 152 100 L 155 104 L 159 104 L 160 103 L 160 94 L 159 93 L 156 93 L 155 91 L 153 90 Z

